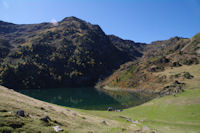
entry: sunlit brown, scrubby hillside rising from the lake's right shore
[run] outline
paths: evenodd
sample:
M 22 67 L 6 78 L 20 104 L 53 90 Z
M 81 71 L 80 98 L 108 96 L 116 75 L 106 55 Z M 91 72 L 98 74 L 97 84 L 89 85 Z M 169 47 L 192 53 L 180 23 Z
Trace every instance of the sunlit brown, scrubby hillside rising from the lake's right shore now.
M 190 75 L 189 69 L 171 77 L 167 77 L 169 72 L 165 70 L 179 67 L 185 69 L 190 68 L 190 65 L 199 64 L 199 43 L 199 34 L 191 39 L 175 37 L 153 42 L 146 47 L 142 58 L 121 65 L 120 69 L 98 86 L 156 93 L 176 80 L 181 81 L 181 77 L 186 76 L 185 79 L 190 79 L 187 77 Z M 165 74 L 159 75 L 159 72 Z

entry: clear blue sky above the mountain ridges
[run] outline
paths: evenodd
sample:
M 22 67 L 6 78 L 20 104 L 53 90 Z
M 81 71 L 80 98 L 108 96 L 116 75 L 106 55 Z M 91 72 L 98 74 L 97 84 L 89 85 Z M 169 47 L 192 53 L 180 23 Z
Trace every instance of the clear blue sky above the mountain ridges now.
M 76 16 L 136 42 L 200 32 L 200 0 L 0 0 L 0 20 L 41 23 Z

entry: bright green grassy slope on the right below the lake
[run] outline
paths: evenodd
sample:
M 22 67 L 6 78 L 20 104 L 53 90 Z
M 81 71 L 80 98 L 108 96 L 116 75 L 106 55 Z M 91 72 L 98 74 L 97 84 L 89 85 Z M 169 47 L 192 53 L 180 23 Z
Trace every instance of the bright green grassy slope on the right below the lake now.
M 125 109 L 122 112 L 84 111 L 93 115 L 126 122 L 125 116 L 139 120 L 141 125 L 155 129 L 159 133 L 199 133 L 200 132 L 200 65 L 166 69 L 158 75 L 189 72 L 193 79 L 177 80 L 186 83 L 185 92 L 177 96 L 156 98 L 143 105 Z

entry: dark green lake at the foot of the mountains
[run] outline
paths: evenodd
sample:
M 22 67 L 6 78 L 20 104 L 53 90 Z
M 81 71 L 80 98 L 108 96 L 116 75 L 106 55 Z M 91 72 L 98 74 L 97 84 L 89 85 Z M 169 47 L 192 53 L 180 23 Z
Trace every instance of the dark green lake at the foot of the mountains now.
M 17 90 L 30 97 L 67 107 L 106 110 L 127 108 L 146 101 L 146 98 L 129 91 L 99 91 L 95 88 L 57 88 Z

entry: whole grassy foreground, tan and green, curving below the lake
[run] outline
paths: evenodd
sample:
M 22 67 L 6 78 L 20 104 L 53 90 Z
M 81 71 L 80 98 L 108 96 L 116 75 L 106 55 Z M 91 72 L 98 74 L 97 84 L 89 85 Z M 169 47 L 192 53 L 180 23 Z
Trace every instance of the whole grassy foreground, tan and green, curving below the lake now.
M 185 91 L 165 96 L 122 112 L 82 110 L 42 102 L 0 87 L 0 132 L 53 133 L 58 125 L 68 133 L 200 133 L 200 67 L 182 66 L 157 75 L 167 78 L 183 72 L 194 77 L 177 80 L 186 83 Z M 27 117 L 16 116 L 24 110 Z M 40 118 L 51 118 L 45 123 Z

